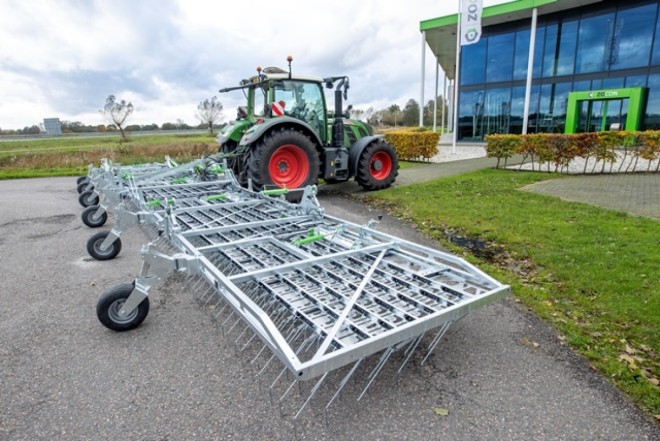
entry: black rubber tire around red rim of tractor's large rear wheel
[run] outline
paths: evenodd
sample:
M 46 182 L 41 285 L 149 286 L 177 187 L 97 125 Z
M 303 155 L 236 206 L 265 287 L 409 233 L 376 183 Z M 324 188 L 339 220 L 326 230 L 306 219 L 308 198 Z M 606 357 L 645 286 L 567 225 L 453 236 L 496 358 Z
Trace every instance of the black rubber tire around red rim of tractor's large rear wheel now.
M 262 140 L 252 147 L 247 159 L 247 177 L 252 179 L 252 186 L 261 190 L 264 186 L 279 186 L 273 182 L 270 176 L 270 160 L 273 154 L 284 145 L 294 145 L 301 149 L 307 157 L 309 171 L 301 185 L 287 187 L 290 189 L 301 188 L 315 184 L 319 177 L 319 154 L 314 143 L 303 133 L 283 127 L 267 134 Z

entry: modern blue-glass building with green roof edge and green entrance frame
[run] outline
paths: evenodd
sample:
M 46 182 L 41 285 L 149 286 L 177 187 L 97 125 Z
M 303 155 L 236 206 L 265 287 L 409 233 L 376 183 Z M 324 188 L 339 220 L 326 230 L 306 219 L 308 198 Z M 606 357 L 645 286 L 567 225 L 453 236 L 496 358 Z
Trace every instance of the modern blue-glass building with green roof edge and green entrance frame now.
M 480 41 L 461 51 L 458 139 L 522 133 L 534 8 L 527 133 L 660 129 L 659 4 L 519 0 L 485 8 Z M 420 26 L 449 78 L 457 18 Z

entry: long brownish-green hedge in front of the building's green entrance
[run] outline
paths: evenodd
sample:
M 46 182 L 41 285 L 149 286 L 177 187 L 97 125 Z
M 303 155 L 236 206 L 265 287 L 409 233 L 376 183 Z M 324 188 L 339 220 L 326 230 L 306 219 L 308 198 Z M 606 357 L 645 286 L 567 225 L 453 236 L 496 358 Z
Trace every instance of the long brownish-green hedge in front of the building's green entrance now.
M 583 173 L 588 172 L 589 160 L 591 173 L 599 171 L 605 173 L 607 164 L 608 172 L 620 173 L 634 170 L 639 158 L 649 161 L 647 171 L 652 171 L 652 162 L 658 161 L 653 171 L 660 170 L 660 131 L 645 132 L 591 132 L 575 134 L 534 133 L 528 135 L 488 135 L 486 136 L 486 156 L 497 158 L 497 168 L 500 161 L 507 160 L 513 155 L 522 155 L 523 162 L 530 159 L 532 168 L 534 162 L 538 162 L 539 170 L 541 164 L 547 164 L 547 170 L 554 165 L 554 171 L 562 172 L 568 169 L 568 165 L 576 158 L 584 159 Z M 622 170 L 625 159 L 632 158 L 625 170 Z M 617 158 L 621 162 L 617 170 L 614 163 Z M 599 168 L 600 167 L 600 168 Z

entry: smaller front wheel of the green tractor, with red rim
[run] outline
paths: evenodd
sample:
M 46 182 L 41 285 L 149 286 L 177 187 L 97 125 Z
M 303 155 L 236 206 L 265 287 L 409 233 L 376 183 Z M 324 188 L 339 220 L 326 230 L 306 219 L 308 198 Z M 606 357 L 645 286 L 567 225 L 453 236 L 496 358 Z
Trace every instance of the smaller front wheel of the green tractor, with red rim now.
M 378 140 L 360 155 L 355 180 L 365 190 L 382 190 L 392 185 L 398 174 L 399 159 L 394 147 Z

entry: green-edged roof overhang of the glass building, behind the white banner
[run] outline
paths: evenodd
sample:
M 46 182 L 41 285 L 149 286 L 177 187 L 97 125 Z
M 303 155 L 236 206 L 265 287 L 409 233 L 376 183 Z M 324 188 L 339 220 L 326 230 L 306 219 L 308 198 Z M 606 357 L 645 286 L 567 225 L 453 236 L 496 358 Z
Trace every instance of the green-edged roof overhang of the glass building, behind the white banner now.
M 516 0 L 484 8 L 482 27 L 531 19 L 534 8 L 538 15 L 551 14 L 565 9 L 578 8 L 601 0 Z M 458 14 L 421 21 L 419 30 L 424 33 L 426 44 L 431 48 L 446 73 L 454 79 L 456 66 L 456 30 Z

